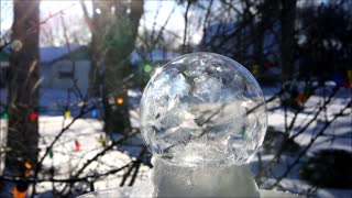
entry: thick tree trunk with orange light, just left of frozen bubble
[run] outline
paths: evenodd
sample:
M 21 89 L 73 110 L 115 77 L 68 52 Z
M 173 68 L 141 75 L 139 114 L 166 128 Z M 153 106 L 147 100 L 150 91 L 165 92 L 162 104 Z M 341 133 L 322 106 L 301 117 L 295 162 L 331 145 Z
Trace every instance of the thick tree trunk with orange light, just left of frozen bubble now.
M 130 55 L 134 50 L 143 1 L 116 1 L 114 18 L 105 36 L 105 131 L 127 133 L 130 128 L 128 86 Z M 128 12 L 130 10 L 130 12 Z M 111 13 L 111 11 L 109 10 Z

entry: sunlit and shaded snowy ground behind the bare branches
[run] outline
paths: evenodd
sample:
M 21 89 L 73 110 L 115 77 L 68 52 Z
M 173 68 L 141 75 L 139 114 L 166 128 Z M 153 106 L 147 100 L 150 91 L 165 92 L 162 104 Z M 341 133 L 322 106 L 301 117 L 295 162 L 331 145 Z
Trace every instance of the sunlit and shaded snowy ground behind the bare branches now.
M 266 98 L 271 97 L 273 94 L 277 91 L 276 88 L 264 88 L 264 95 Z M 345 106 L 349 98 L 351 97 L 351 90 L 341 89 L 338 92 L 337 97 L 331 102 L 328 109 L 328 118 L 332 118 L 333 113 L 338 112 L 342 107 Z M 130 111 L 132 125 L 138 128 L 138 102 L 141 97 L 141 92 L 135 90 L 130 90 L 129 95 L 131 97 L 130 102 L 134 107 Z M 6 101 L 7 94 L 4 90 L 0 90 L 0 100 L 2 102 Z M 46 112 L 40 112 L 40 133 L 42 139 L 40 141 L 41 154 L 43 154 L 44 150 L 47 145 L 54 140 L 57 133 L 59 133 L 61 129 L 68 124 L 72 121 L 72 118 L 64 119 L 64 106 L 67 101 L 67 92 L 58 91 L 58 90 L 41 90 L 41 106 L 46 107 Z M 307 102 L 307 106 L 316 106 L 317 103 L 322 101 L 322 97 L 311 97 Z M 79 105 L 79 99 L 77 97 L 70 97 L 72 108 Z M 268 109 L 271 107 L 275 107 L 277 103 L 273 102 L 268 105 Z M 351 113 L 351 110 L 348 111 Z M 75 116 L 75 111 L 73 111 Z M 292 117 L 292 114 L 289 114 Z M 300 117 L 297 118 L 297 123 L 305 123 L 309 120 L 311 116 L 307 113 L 301 113 Z M 323 121 L 324 117 L 319 117 L 321 121 Z M 322 123 L 322 122 L 321 122 Z M 310 138 L 317 133 L 319 128 L 321 128 L 321 123 L 317 122 L 309 127 L 307 130 L 308 133 L 300 135 L 297 140 L 297 143 L 301 146 L 305 146 L 309 143 Z M 282 109 L 275 109 L 268 113 L 268 124 L 273 125 L 276 130 L 284 131 L 284 111 Z M 318 151 L 321 148 L 342 148 L 352 152 L 352 118 L 351 114 L 346 117 L 339 118 L 332 125 L 327 129 L 327 134 L 317 140 L 309 153 L 314 151 Z M 6 131 L 7 131 L 7 121 L 1 120 L 0 122 L 0 145 L 1 147 L 4 145 L 6 140 Z M 297 130 L 297 129 L 296 129 Z M 331 139 L 331 135 L 334 135 L 334 139 Z M 64 135 L 59 139 L 59 141 L 54 146 L 54 155 L 53 158 L 47 157 L 44 161 L 44 167 L 47 169 L 50 167 L 55 167 L 56 175 L 58 178 L 68 178 L 68 176 L 77 168 L 79 168 L 87 160 L 95 156 L 97 153 L 103 150 L 103 147 L 99 144 L 99 136 L 105 136 L 102 132 L 102 122 L 98 119 L 92 118 L 84 118 L 77 120 L 68 131 L 64 133 Z M 75 141 L 78 141 L 80 144 L 80 151 L 75 150 Z M 141 142 L 139 142 L 141 143 Z M 103 157 L 101 157 L 98 162 L 92 163 L 88 168 L 86 168 L 84 175 L 91 173 L 105 173 L 111 168 L 121 167 L 128 164 L 132 157 L 131 153 L 135 152 L 138 147 L 124 147 L 120 150 L 117 147 L 116 150 L 108 152 Z M 135 155 L 135 153 L 133 153 Z M 3 156 L 2 156 L 3 157 Z M 3 158 L 0 161 L 0 170 L 3 167 Z M 273 155 L 263 156 L 263 162 L 268 162 Z M 289 157 L 286 157 L 285 162 L 290 161 Z M 285 168 L 286 164 L 280 163 L 276 165 L 275 173 L 279 174 Z M 253 162 L 253 167 L 255 169 L 256 160 Z M 141 182 L 141 179 L 146 179 L 146 175 L 148 172 L 147 166 L 142 166 L 140 170 L 140 175 L 138 177 L 136 184 Z M 118 174 L 118 177 L 109 176 L 105 177 L 100 182 L 95 184 L 96 190 L 114 188 L 120 185 L 121 175 L 123 172 Z M 287 178 L 283 180 L 283 186 L 287 189 L 294 190 L 296 193 L 301 193 L 304 189 L 309 188 L 309 185 L 301 179 L 299 179 L 298 169 L 294 169 Z M 59 186 L 57 186 L 59 188 Z M 40 191 L 46 191 L 52 189 L 52 183 L 41 183 L 38 185 Z M 349 190 L 339 190 L 339 189 L 319 189 L 319 197 L 351 197 L 352 189 Z

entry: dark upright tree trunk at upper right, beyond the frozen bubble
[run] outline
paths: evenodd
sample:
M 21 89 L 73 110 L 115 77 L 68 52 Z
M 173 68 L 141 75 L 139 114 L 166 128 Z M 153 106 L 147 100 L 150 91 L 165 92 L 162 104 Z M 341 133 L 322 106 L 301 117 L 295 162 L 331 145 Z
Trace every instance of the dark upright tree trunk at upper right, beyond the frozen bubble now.
M 293 78 L 295 67 L 295 21 L 297 0 L 282 0 L 280 62 L 282 81 Z

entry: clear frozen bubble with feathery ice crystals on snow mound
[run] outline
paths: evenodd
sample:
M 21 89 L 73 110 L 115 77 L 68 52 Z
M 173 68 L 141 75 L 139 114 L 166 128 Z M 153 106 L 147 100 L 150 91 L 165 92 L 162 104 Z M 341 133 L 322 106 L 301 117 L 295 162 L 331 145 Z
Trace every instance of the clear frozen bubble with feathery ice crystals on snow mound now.
M 140 118 L 151 152 L 184 166 L 249 163 L 267 125 L 255 78 L 235 61 L 212 53 L 187 54 L 156 69 Z

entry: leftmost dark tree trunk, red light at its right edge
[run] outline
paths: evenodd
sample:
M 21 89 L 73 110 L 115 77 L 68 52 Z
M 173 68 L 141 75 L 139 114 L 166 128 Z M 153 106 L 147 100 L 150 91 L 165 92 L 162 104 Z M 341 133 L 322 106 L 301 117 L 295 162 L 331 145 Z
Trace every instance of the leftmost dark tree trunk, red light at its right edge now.
M 13 1 L 6 172 L 23 176 L 24 163 L 37 161 L 40 1 Z

